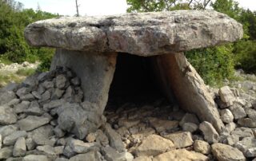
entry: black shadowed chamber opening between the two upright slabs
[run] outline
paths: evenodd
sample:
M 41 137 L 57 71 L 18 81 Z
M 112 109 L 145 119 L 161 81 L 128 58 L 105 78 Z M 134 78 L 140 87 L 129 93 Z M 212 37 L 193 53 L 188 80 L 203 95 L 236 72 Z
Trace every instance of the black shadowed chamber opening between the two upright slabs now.
M 153 72 L 152 59 L 154 57 L 118 54 L 106 109 L 118 108 L 127 102 L 143 104 L 164 98 Z

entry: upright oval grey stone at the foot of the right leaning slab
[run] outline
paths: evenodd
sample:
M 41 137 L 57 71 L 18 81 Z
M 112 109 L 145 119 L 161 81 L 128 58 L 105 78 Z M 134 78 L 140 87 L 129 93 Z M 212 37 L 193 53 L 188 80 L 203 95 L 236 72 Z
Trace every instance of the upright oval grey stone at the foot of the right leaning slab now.
M 202 131 L 207 142 L 218 143 L 219 135 L 212 124 L 204 121 L 199 125 L 199 129 Z

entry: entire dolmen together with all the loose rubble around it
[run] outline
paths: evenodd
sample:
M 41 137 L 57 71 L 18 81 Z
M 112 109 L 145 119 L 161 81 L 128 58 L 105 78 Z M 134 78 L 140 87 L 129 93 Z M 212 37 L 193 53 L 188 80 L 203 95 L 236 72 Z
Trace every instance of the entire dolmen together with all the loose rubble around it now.
M 31 24 L 25 35 L 30 45 L 58 49 L 50 72 L 1 89 L 0 159 L 256 157 L 256 98 L 228 86 L 207 88 L 182 53 L 241 38 L 242 26 L 225 14 L 180 10 L 57 18 Z M 166 71 L 162 82 L 169 82 L 178 105 L 159 99 L 104 111 L 117 52 L 158 55 L 154 63 Z

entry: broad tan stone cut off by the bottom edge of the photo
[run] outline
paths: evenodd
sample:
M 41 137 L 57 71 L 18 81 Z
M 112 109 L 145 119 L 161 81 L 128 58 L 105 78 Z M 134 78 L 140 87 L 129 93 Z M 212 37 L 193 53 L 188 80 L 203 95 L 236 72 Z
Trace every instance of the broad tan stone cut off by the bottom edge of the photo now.
M 208 157 L 195 151 L 187 151 L 186 149 L 177 149 L 174 151 L 168 151 L 161 155 L 154 157 L 153 161 L 165 161 L 165 160 L 191 160 L 191 161 L 206 161 Z

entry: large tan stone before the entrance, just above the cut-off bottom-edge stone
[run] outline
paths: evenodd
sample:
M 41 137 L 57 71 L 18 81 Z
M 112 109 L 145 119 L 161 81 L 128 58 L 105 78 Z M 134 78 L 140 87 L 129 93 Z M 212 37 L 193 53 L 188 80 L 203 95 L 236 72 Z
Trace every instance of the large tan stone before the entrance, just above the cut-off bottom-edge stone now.
M 142 140 L 136 150 L 136 155 L 159 155 L 166 151 L 174 149 L 174 143 L 170 139 L 162 138 L 159 135 L 149 135 L 146 139 Z

